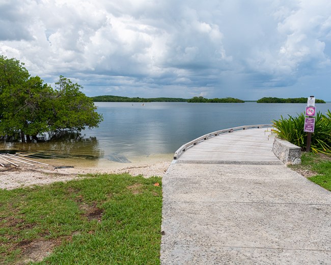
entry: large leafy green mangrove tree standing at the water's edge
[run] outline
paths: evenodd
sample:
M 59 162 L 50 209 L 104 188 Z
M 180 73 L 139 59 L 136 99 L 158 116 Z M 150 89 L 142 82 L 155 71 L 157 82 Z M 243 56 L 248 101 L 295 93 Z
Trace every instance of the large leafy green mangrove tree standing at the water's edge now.
M 97 127 L 102 116 L 81 86 L 60 76 L 52 89 L 18 60 L 0 56 L 0 136 L 37 139 L 49 131 Z

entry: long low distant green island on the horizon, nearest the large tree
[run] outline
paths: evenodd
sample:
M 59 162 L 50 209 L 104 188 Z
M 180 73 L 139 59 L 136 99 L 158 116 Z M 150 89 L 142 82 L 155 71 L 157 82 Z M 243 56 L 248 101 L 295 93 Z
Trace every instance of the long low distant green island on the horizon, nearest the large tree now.
M 95 96 L 91 97 L 94 102 L 186 102 L 185 98 L 157 97 L 157 98 L 140 98 L 140 97 L 120 97 L 120 96 Z

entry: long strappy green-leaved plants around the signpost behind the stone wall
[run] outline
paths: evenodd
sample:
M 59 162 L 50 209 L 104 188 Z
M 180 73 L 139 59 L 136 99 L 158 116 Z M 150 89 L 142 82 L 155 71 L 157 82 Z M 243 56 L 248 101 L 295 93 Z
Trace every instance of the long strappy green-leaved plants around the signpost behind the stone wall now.
M 283 116 L 280 120 L 273 120 L 273 126 L 277 130 L 278 137 L 295 144 L 302 149 L 307 146 L 307 133 L 304 132 L 305 114 L 297 117 L 289 115 L 288 119 Z M 331 154 L 331 113 L 326 115 L 317 113 L 315 118 L 315 132 L 312 134 L 311 150 L 315 153 Z

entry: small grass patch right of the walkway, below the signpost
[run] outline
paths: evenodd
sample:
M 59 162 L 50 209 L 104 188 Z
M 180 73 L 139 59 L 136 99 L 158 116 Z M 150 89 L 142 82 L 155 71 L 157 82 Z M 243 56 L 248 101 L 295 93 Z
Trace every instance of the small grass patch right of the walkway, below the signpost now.
M 331 155 L 302 153 L 301 165 L 291 168 L 302 175 L 308 172 L 308 179 L 331 191 Z

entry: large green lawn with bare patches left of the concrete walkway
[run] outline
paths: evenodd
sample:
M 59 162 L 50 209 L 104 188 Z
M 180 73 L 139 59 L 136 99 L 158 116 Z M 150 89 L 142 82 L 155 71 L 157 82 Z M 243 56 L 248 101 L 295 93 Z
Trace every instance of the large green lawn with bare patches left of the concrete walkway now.
M 161 178 L 0 190 L 1 264 L 159 264 Z

